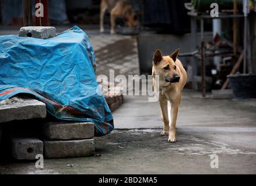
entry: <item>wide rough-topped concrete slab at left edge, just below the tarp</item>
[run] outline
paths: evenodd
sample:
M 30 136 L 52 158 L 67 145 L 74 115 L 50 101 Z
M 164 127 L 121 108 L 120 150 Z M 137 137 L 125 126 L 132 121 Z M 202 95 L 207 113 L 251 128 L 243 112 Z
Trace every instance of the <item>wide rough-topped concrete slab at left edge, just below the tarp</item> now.
M 31 98 L 12 98 L 0 102 L 0 123 L 46 117 L 43 102 Z

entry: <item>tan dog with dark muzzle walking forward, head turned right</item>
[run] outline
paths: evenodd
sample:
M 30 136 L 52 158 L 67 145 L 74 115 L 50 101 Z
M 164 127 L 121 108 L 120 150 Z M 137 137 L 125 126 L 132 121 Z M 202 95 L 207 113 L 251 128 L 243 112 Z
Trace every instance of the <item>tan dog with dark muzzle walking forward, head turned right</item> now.
M 181 91 L 187 82 L 187 73 L 177 59 L 177 49 L 169 56 L 162 56 L 157 49 L 153 57 L 153 89 L 159 90 L 159 103 L 162 112 L 161 119 L 164 123 L 161 135 L 169 133 L 169 142 L 176 142 L 176 121 L 178 115 L 178 106 L 181 102 Z M 171 123 L 169 127 L 167 101 L 171 103 Z

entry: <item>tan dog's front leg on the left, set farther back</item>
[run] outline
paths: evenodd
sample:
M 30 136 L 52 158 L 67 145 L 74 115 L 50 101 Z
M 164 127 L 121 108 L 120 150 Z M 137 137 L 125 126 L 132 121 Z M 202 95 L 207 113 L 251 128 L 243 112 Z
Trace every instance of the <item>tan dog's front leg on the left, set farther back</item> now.
M 169 133 L 169 118 L 168 118 L 168 106 L 166 99 L 159 99 L 161 108 L 161 119 L 163 121 L 163 131 L 161 135 L 167 135 Z

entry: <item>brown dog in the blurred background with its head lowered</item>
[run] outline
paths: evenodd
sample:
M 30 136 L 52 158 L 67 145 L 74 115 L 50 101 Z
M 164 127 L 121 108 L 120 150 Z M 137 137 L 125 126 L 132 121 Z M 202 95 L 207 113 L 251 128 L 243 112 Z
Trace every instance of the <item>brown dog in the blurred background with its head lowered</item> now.
M 115 33 L 115 19 L 124 18 L 128 27 L 138 26 L 138 20 L 132 9 L 131 2 L 125 0 L 101 0 L 100 4 L 100 32 L 104 32 L 104 15 L 110 12 L 111 34 Z

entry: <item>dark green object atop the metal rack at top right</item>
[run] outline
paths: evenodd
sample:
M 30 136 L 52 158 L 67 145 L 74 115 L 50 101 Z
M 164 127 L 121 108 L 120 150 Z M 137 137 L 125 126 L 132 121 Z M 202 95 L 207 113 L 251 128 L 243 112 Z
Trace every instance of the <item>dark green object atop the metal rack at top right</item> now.
M 219 10 L 221 9 L 233 9 L 233 0 L 191 0 L 192 7 L 198 12 L 204 12 L 211 10 L 211 3 L 217 3 Z M 243 9 L 243 0 L 237 0 L 237 8 Z

